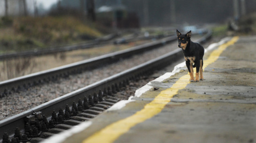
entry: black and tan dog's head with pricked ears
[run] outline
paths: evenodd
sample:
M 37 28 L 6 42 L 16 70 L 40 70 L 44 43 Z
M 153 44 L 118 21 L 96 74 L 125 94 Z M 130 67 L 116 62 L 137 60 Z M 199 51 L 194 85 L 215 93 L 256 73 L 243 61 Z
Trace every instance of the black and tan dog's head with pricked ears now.
M 178 47 L 185 50 L 188 45 L 188 42 L 190 41 L 191 30 L 187 34 L 181 34 L 179 30 L 176 30 L 176 33 L 178 37 Z

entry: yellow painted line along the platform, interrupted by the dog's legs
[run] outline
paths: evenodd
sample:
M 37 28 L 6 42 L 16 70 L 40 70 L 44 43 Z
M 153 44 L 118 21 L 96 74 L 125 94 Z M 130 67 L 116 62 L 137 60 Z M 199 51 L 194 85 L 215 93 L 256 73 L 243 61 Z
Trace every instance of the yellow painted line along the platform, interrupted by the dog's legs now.
M 204 68 L 216 61 L 226 47 L 233 45 L 237 40 L 238 37 L 234 37 L 226 44 L 220 45 L 218 49 L 214 50 L 209 58 L 204 61 Z M 146 104 L 142 110 L 125 119 L 106 126 L 95 134 L 89 136 L 87 139 L 83 140 L 83 143 L 113 143 L 117 138 L 120 137 L 120 135 L 128 132 L 130 128 L 160 113 L 165 105 L 171 101 L 173 96 L 176 95 L 179 90 L 184 89 L 188 83 L 190 83 L 189 78 L 190 76 L 188 74 L 181 76 L 181 78 L 174 83 L 171 88 L 161 91 L 154 98 L 154 100 Z

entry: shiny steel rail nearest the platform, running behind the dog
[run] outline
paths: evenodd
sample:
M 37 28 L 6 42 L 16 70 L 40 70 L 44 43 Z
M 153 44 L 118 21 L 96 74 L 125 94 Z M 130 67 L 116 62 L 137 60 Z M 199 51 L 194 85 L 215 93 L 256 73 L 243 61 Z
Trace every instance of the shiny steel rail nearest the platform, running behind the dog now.
M 196 40 L 196 42 L 203 43 L 209 38 L 211 38 L 211 31 L 208 31 L 207 34 L 203 36 L 203 38 Z M 53 99 L 47 103 L 34 107 L 23 113 L 19 113 L 5 120 L 1 120 L 0 121 L 0 140 L 2 139 L 2 135 L 5 132 L 7 132 L 10 136 L 13 136 L 15 128 L 20 128 L 21 132 L 24 132 L 25 119 L 27 116 L 31 114 L 41 112 L 49 120 L 51 118 L 51 113 L 52 113 L 51 111 L 53 110 L 58 111 L 60 108 L 65 109 L 65 105 L 70 105 L 72 101 L 78 101 L 79 99 L 83 99 L 83 97 L 88 97 L 88 95 L 90 94 L 92 95 L 95 92 L 98 93 L 100 89 L 111 88 L 111 85 L 113 84 L 126 83 L 126 81 L 130 79 L 134 79 L 137 76 L 140 76 L 144 73 L 148 73 L 153 70 L 163 68 L 169 65 L 170 63 L 172 63 L 173 61 L 180 59 L 182 55 L 183 55 L 182 50 L 176 49 L 156 59 L 149 60 L 136 67 L 127 69 L 123 72 L 120 72 L 116 75 L 105 78 L 99 82 L 90 84 L 79 90 L 75 90 L 71 93 L 68 93 L 59 98 Z

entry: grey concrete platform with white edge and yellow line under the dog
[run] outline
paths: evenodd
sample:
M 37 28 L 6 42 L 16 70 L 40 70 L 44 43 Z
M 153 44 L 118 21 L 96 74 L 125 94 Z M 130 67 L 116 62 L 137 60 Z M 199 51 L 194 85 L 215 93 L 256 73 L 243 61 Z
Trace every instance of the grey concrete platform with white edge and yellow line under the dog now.
M 256 143 L 256 37 L 211 45 L 203 67 L 204 80 L 189 82 L 180 64 L 45 143 Z

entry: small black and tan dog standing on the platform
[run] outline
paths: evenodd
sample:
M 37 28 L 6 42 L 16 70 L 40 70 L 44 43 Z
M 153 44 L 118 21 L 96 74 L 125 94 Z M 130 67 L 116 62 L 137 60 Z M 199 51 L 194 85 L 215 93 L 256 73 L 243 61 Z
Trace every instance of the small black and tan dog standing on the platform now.
M 203 46 L 190 40 L 191 31 L 189 31 L 187 34 L 181 34 L 180 31 L 176 30 L 176 33 L 179 42 L 178 46 L 183 50 L 184 58 L 186 60 L 186 66 L 190 75 L 190 82 L 199 82 L 199 72 L 200 80 L 203 80 Z M 194 78 L 193 71 L 193 68 L 195 67 L 196 79 Z

